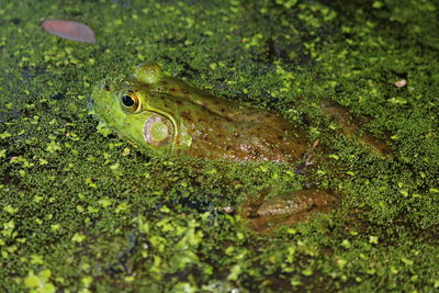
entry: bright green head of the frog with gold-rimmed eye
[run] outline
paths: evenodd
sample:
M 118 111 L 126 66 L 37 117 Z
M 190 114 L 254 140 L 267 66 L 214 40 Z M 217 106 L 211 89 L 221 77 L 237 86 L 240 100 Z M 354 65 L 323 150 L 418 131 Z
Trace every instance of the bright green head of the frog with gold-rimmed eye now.
M 102 81 L 92 93 L 97 115 L 136 146 L 170 149 L 176 121 L 150 101 L 154 84 L 162 77 L 157 65 L 143 64 L 132 77 L 119 82 Z

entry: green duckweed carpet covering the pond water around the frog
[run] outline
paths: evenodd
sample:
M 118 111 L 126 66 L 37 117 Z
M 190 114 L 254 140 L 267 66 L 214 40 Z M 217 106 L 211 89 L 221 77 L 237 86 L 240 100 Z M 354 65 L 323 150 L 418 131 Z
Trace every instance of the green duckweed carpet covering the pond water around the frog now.
M 2 291 L 439 288 L 435 1 L 0 3 Z M 98 44 L 45 34 L 44 19 L 85 22 Z M 101 135 L 91 86 L 144 60 L 297 123 L 306 114 L 344 166 L 314 174 L 345 194 L 340 209 L 257 235 L 222 207 L 262 185 L 299 188 L 291 169 L 156 158 Z M 368 115 L 395 159 L 334 135 L 323 98 Z

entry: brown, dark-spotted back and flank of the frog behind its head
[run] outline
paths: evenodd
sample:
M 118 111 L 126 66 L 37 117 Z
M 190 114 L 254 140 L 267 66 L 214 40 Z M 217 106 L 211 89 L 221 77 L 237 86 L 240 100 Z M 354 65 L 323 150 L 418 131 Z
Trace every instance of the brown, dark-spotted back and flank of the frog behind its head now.
M 238 161 L 293 162 L 303 158 L 307 149 L 306 135 L 283 115 L 255 108 L 238 109 L 234 116 L 223 115 L 235 109 L 234 104 L 219 99 L 217 105 L 219 113 L 210 108 L 191 112 L 189 101 L 180 104 L 179 122 L 191 136 L 191 146 L 182 153 Z

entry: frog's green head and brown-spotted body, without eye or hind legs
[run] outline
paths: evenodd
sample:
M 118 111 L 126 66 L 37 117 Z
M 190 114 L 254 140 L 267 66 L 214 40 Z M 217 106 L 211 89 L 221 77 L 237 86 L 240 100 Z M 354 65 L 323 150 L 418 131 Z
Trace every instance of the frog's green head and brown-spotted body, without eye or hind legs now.
M 124 95 L 136 99 L 137 109 L 127 111 L 121 100 Z M 102 84 L 94 91 L 94 102 L 101 119 L 154 151 L 293 162 L 307 149 L 305 134 L 281 114 L 214 97 L 166 76 L 154 64 L 139 66 L 133 77 L 117 84 Z M 166 125 L 155 137 L 166 139 L 151 136 L 157 124 Z

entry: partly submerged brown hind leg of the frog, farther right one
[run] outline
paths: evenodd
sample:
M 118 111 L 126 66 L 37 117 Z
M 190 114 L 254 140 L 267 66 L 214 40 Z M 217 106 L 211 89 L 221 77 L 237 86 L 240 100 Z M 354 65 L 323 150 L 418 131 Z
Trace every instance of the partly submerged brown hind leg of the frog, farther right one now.
M 373 153 L 382 158 L 394 157 L 392 149 L 383 140 L 373 137 L 370 133 L 360 131 L 360 123 L 354 121 L 347 109 L 331 100 L 322 101 L 320 106 L 323 113 L 334 120 L 342 135 L 369 146 Z

